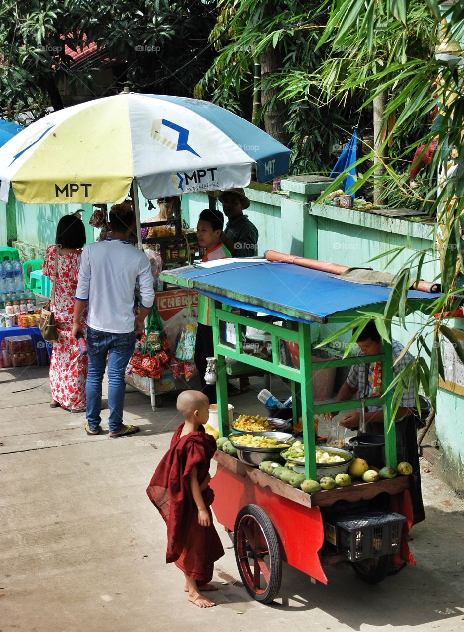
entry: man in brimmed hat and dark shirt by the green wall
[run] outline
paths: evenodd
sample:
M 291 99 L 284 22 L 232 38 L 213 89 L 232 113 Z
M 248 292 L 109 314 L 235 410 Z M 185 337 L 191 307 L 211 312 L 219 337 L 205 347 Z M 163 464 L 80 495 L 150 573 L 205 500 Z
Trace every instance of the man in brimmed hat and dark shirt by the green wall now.
M 229 220 L 221 240 L 233 257 L 256 257 L 258 253 L 258 229 L 243 210 L 248 209 L 250 200 L 243 188 L 226 189 L 219 195 L 223 213 Z

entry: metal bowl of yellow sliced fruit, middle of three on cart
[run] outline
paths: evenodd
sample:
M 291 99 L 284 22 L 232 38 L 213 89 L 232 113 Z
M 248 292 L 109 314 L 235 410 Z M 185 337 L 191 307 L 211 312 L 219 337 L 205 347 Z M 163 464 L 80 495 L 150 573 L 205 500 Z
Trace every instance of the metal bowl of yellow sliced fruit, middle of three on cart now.
M 261 461 L 281 461 L 281 452 L 290 447 L 293 435 L 288 432 L 262 432 L 259 435 L 250 433 L 229 434 L 229 441 L 237 449 L 237 456 L 243 463 L 259 465 Z

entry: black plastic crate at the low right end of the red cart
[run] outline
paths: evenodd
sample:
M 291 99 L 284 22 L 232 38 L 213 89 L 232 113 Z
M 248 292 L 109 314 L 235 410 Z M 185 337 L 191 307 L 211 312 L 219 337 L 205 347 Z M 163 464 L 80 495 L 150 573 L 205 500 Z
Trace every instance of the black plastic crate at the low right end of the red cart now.
M 337 521 L 338 552 L 351 562 L 396 553 L 405 516 L 385 510 L 343 516 Z

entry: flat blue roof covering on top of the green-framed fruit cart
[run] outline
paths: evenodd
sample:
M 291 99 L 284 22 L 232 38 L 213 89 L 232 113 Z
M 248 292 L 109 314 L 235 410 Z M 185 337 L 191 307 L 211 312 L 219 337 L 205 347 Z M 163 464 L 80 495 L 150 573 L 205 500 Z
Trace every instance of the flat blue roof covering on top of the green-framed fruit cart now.
M 259 308 L 260 312 L 301 322 L 327 322 L 331 315 L 386 303 L 391 294 L 389 288 L 351 283 L 320 270 L 265 259 L 189 265 L 164 270 L 161 278 L 196 289 L 226 305 Z M 426 292 L 408 291 L 408 300 L 430 303 L 436 298 Z

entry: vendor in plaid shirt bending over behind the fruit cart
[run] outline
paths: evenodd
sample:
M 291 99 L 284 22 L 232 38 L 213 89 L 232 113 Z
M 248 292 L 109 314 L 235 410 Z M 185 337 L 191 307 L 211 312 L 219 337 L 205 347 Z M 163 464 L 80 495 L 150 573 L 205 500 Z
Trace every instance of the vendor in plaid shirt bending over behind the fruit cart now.
M 360 333 L 357 339 L 358 356 L 376 355 L 381 353 L 381 337 L 375 327 L 374 320 L 371 320 Z M 392 340 L 393 353 L 393 374 L 396 377 L 400 370 L 412 360 L 412 355 L 406 351 L 400 362 L 396 363 L 404 347 L 396 340 Z M 353 399 L 357 394 L 358 398 L 374 398 L 382 395 L 382 363 L 374 362 L 369 365 L 353 365 L 346 378 L 345 384 L 341 386 L 335 398 L 336 402 L 343 402 Z M 422 493 L 420 489 L 419 457 L 417 449 L 417 434 L 415 421 L 412 415 L 415 405 L 415 387 L 412 380 L 405 384 L 405 390 L 401 397 L 400 406 L 396 411 L 396 453 L 398 461 L 408 461 L 412 465 L 413 474 L 417 477 L 410 490 L 414 511 L 414 523 L 425 520 L 424 506 L 422 504 Z M 324 413 L 324 418 L 332 419 L 337 412 Z M 350 411 L 338 423 L 345 428 L 355 430 L 360 425 L 360 411 Z M 383 434 L 384 413 L 381 405 L 367 406 L 365 411 L 364 432 L 382 435 Z

